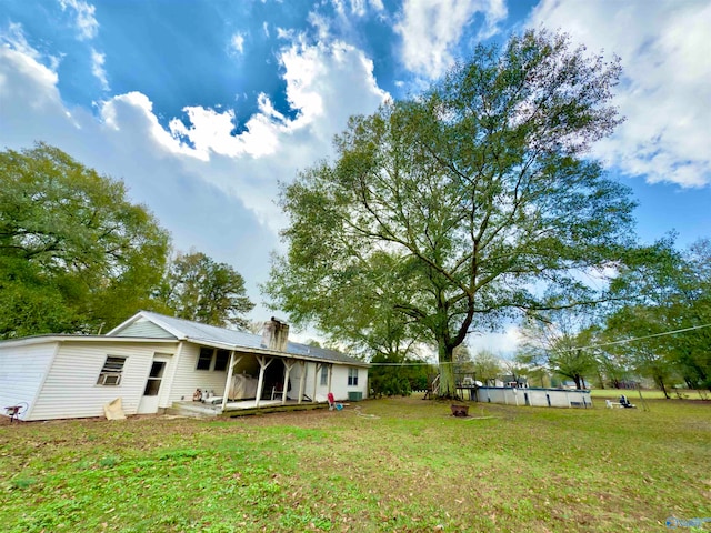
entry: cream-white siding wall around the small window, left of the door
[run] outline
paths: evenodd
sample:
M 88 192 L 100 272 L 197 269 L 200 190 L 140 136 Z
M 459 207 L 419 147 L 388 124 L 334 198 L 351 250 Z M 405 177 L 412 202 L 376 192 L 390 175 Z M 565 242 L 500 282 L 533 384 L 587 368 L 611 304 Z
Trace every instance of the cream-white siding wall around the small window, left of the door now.
M 164 344 L 63 342 L 54 358 L 31 420 L 103 416 L 103 405 L 121 398 L 123 412 L 134 414 L 143 394 L 153 353 Z M 107 355 L 127 358 L 121 383 L 98 385 Z M 170 365 L 170 363 L 169 363 Z

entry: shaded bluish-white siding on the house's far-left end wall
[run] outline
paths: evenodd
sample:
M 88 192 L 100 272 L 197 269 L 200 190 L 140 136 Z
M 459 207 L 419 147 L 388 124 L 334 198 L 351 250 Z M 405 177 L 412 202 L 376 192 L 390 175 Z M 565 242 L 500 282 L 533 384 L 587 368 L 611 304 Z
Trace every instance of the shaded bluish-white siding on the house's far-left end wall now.
M 29 409 L 24 408 L 20 418 L 32 420 L 34 402 L 56 349 L 53 341 L 0 348 L 0 409 L 27 404 Z

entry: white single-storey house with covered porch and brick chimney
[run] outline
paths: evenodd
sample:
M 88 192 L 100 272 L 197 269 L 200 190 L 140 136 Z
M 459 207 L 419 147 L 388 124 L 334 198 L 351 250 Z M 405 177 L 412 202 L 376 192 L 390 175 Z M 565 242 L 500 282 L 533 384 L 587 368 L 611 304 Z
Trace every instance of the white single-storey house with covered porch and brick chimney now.
M 106 335 L 2 341 L 0 408 L 30 421 L 102 416 L 117 399 L 131 415 L 367 398 L 367 363 L 288 334 L 274 319 L 254 335 L 141 311 Z

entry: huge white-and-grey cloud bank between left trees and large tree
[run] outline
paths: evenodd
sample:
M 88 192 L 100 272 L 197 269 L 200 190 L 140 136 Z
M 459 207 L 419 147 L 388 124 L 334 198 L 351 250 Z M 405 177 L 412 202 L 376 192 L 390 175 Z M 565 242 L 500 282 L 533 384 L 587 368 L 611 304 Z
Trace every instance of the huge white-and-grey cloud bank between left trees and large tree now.
M 0 47 L 0 147 L 42 140 L 99 172 L 123 179 L 133 201 L 156 213 L 180 250 L 196 248 L 238 269 L 250 298 L 269 273 L 269 253 L 286 222 L 276 205 L 278 181 L 328 157 L 352 113 L 370 113 L 387 98 L 372 62 L 348 44 L 289 43 L 280 52 L 289 119 L 260 95 L 244 131 L 231 133 L 230 109 L 186 108 L 166 129 L 149 95 L 118 94 L 91 109 L 69 108 L 57 72 L 16 32 Z M 267 311 L 258 305 L 254 320 Z

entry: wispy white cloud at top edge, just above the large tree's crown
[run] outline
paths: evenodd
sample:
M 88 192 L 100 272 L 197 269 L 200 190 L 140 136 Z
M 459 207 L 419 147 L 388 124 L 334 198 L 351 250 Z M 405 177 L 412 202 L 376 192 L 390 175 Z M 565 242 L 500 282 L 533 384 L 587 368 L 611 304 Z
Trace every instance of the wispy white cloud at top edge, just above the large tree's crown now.
M 477 13 L 484 16 L 478 38 L 498 32 L 505 19 L 503 0 L 405 0 L 394 30 L 402 36 L 402 62 L 417 74 L 439 78 L 454 61 L 464 27 Z

